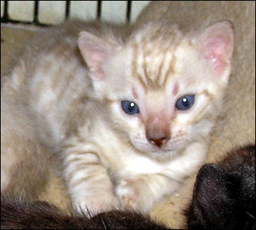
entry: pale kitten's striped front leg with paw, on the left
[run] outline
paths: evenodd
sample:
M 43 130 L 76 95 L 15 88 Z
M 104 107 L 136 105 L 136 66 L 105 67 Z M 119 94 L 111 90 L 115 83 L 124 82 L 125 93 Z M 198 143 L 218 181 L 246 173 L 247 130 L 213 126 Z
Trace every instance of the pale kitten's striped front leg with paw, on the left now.
M 118 199 L 97 153 L 72 145 L 64 150 L 64 177 L 75 210 L 86 215 L 117 209 Z M 84 147 L 84 146 L 83 146 Z

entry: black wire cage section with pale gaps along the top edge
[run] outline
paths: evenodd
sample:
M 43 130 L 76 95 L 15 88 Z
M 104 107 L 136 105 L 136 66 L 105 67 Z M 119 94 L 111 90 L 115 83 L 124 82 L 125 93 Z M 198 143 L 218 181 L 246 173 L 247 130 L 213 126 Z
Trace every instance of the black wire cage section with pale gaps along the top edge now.
M 45 26 L 69 18 L 133 22 L 149 1 L 1 1 L 1 23 Z

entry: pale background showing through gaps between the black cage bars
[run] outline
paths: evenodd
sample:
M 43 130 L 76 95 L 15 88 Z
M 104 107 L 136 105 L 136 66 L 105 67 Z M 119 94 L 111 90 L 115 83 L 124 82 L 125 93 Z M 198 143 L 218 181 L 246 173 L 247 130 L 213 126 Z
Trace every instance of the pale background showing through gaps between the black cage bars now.
M 140 14 L 150 1 L 132 1 L 131 21 Z M 66 1 L 39 1 L 40 23 L 61 23 L 65 18 Z M 102 20 L 113 23 L 125 23 L 127 1 L 102 1 Z M 1 1 L 1 17 L 4 13 L 4 1 Z M 32 21 L 34 19 L 34 1 L 9 1 L 8 13 L 13 20 Z M 94 20 L 97 18 L 97 1 L 70 1 L 70 18 Z

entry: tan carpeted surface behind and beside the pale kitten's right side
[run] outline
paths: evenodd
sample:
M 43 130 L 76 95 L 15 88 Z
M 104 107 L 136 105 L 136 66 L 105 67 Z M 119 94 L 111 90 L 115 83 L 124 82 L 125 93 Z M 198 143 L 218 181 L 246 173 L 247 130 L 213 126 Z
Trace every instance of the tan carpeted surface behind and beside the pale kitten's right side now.
M 184 28 L 200 28 L 230 20 L 235 28 L 233 71 L 225 112 L 211 135 L 208 163 L 222 159 L 233 147 L 255 143 L 255 1 L 151 1 L 135 25 L 165 18 Z M 184 210 L 192 197 L 195 175 L 177 193 L 151 212 L 151 217 L 174 229 L 187 228 Z

